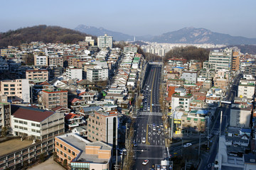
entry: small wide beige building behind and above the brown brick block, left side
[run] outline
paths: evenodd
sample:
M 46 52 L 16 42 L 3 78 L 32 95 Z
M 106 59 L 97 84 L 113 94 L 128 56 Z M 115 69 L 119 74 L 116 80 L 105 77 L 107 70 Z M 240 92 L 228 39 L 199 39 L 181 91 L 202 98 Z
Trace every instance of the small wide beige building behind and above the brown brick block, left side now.
M 48 81 L 48 70 L 47 69 L 27 69 L 26 79 L 30 80 L 46 80 Z

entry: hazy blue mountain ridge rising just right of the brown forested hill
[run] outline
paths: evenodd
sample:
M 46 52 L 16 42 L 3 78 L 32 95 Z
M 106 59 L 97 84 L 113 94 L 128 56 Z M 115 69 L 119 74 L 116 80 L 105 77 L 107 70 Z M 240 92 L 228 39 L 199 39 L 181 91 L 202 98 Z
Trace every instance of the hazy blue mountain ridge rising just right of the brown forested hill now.
M 117 40 L 117 41 L 132 41 L 134 40 L 134 36 L 132 35 L 128 35 L 128 34 L 124 34 L 124 33 L 118 33 L 118 32 L 114 32 L 112 30 L 106 30 L 105 28 L 96 28 L 94 26 L 85 26 L 85 25 L 79 25 L 77 26 L 74 30 L 78 30 L 82 33 L 88 33 L 91 35 L 96 35 L 96 36 L 102 36 L 102 35 L 110 35 L 113 37 L 113 40 Z

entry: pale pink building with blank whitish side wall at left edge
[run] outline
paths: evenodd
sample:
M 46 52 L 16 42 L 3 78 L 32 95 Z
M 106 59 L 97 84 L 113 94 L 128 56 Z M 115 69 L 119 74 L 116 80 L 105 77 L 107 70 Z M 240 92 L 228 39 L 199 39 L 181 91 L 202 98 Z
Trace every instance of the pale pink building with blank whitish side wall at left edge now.
M 9 101 L 30 103 L 31 93 L 28 79 L 2 80 L 0 82 L 0 95 L 6 95 Z

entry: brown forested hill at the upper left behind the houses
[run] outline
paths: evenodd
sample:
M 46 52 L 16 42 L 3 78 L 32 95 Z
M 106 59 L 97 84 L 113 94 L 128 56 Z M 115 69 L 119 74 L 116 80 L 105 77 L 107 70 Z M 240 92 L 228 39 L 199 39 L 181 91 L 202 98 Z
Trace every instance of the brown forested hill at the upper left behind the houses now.
M 0 33 L 0 48 L 8 45 L 17 46 L 23 42 L 42 41 L 42 42 L 63 42 L 75 43 L 85 40 L 87 34 L 80 33 L 77 30 L 61 28 L 59 26 L 33 26 L 9 30 L 6 33 Z M 96 40 L 96 37 L 92 36 Z

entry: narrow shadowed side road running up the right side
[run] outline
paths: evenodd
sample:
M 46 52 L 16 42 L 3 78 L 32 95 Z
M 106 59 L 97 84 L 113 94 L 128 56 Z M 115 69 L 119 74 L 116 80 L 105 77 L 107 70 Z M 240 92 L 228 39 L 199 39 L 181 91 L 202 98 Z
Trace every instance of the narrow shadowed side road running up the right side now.
M 224 101 L 231 101 L 231 103 L 233 103 L 234 98 L 238 93 L 238 84 L 239 84 L 239 81 L 240 81 L 240 77 L 241 77 L 241 75 L 238 74 L 238 76 L 236 76 L 233 79 L 233 84 L 232 84 L 232 86 L 229 87 L 228 95 L 226 96 L 226 98 L 224 98 Z M 228 104 L 223 104 L 222 105 L 221 110 L 223 111 L 223 117 L 222 117 L 222 123 L 221 123 L 221 135 L 225 134 L 226 124 L 230 120 L 230 108 L 231 108 L 231 106 L 228 105 Z M 208 156 L 205 155 L 205 157 L 203 158 L 204 161 L 201 165 L 202 170 L 210 170 L 211 169 L 210 164 L 215 162 L 215 157 L 216 157 L 216 154 L 218 153 L 217 148 L 218 148 L 219 132 L 220 132 L 220 114 L 218 115 L 218 118 L 215 122 L 215 125 L 213 126 L 213 129 L 211 131 L 211 133 L 213 135 L 216 135 L 212 139 L 213 140 L 213 146 L 211 146 L 211 147 L 213 149 L 210 150 L 210 153 L 208 154 Z

